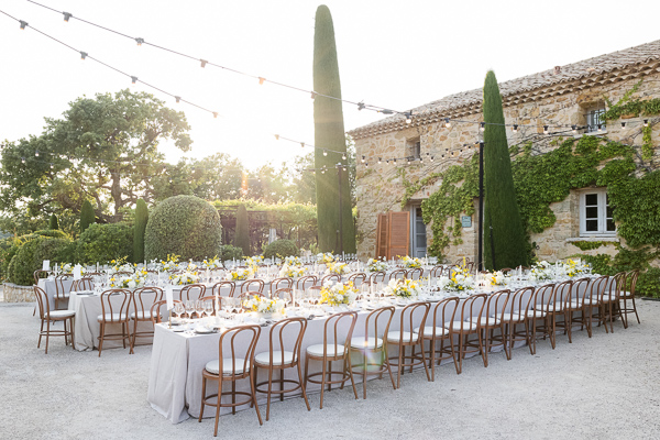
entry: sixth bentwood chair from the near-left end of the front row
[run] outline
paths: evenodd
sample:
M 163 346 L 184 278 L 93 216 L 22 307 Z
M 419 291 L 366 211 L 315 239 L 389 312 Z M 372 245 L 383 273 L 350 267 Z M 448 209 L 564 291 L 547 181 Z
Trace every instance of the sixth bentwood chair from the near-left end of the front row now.
M 452 342 L 453 333 L 446 328 L 446 323 L 454 320 L 458 308 L 459 297 L 454 296 L 436 302 L 429 310 L 429 316 L 432 319 L 428 322 L 429 324 L 424 327 L 421 338 L 422 341 L 429 341 L 429 350 L 427 353 L 429 355 L 429 366 L 431 369 L 431 382 L 436 381 L 436 365 L 440 365 L 442 361 L 448 359 L 453 360 L 457 374 L 461 374 L 454 344 Z M 427 317 L 427 321 L 429 321 L 429 317 Z M 413 331 L 419 333 L 420 327 L 415 328 Z M 440 342 L 439 349 L 438 342 Z M 446 342 L 449 342 L 449 344 L 444 345 Z

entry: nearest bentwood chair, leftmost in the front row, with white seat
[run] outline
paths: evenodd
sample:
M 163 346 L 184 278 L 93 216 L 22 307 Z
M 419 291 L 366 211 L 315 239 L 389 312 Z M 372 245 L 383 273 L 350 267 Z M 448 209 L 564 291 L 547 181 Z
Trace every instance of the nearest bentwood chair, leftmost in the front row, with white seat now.
M 263 425 L 258 404 L 254 393 L 254 378 L 256 369 L 254 367 L 254 350 L 256 341 L 261 334 L 258 326 L 240 326 L 227 330 L 220 336 L 218 342 L 218 359 L 209 361 L 201 372 L 201 408 L 199 410 L 199 419 L 204 416 L 204 407 L 206 405 L 216 407 L 216 427 L 213 437 L 218 436 L 218 422 L 220 421 L 220 408 L 231 408 L 232 414 L 237 414 L 237 406 L 248 405 L 254 406 L 258 424 Z M 229 341 L 229 342 L 226 342 Z M 228 345 L 228 349 L 224 346 Z M 250 392 L 238 392 L 237 381 L 248 378 L 250 381 Z M 206 395 L 207 381 L 217 381 L 218 391 L 209 396 Z M 231 382 L 231 403 L 222 403 L 222 384 Z M 237 396 L 244 396 L 245 399 L 237 402 Z M 267 420 L 267 418 L 266 418 Z

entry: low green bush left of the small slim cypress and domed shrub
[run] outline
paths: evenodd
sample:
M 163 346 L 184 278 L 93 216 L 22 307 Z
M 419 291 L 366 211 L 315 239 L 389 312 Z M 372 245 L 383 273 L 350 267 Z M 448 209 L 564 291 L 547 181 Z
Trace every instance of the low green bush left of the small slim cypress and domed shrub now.
M 78 261 L 86 264 L 103 264 L 120 257 L 133 261 L 133 227 L 127 223 L 90 224 L 78 239 L 77 253 Z

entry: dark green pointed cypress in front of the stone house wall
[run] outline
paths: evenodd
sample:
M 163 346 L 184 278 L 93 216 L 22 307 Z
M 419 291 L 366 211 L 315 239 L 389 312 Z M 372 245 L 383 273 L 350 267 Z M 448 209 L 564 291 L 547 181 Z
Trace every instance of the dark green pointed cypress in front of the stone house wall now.
M 495 74 L 484 82 L 484 261 L 488 270 L 527 265 L 525 231 L 516 201 L 502 96 Z

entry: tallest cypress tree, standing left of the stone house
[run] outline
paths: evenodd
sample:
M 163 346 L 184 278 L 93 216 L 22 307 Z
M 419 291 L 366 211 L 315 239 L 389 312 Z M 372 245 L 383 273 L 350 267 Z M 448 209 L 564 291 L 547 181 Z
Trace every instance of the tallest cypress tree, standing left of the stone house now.
M 330 10 L 324 4 L 318 7 L 316 13 L 314 90 L 320 95 L 341 98 L 334 26 Z M 337 168 L 338 163 L 346 164 L 346 161 L 342 160 L 342 152 L 346 151 L 346 141 L 341 105 L 338 99 L 323 97 L 317 97 L 314 101 L 317 223 L 321 252 L 352 253 L 355 252 L 355 224 L 352 216 L 349 173 L 348 169 Z M 323 154 L 324 152 L 327 155 Z M 323 167 L 327 169 L 326 173 L 320 170 Z M 341 233 L 338 233 L 340 229 Z

